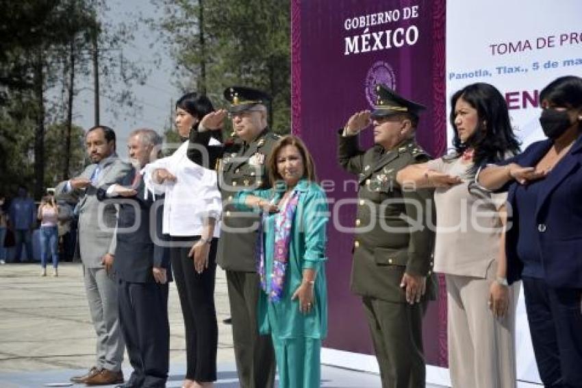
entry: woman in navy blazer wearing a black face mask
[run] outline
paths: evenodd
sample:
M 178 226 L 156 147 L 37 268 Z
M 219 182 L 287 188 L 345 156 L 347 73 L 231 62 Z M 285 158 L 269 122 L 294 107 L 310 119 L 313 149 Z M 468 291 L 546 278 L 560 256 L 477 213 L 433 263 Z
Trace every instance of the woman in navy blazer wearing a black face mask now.
M 522 279 L 542 382 L 582 387 L 582 78 L 559 77 L 540 101 L 548 138 L 478 181 L 508 191 L 507 281 Z

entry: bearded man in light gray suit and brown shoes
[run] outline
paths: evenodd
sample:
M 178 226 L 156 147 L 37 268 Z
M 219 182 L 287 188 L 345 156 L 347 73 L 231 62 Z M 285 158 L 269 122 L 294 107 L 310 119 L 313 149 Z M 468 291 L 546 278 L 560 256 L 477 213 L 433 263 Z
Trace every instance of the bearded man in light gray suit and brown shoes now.
M 107 385 L 123 383 L 121 362 L 125 343 L 117 310 L 117 289 L 112 272 L 117 210 L 101 204 L 97 189 L 121 183 L 131 171 L 115 153 L 115 132 L 99 125 L 86 134 L 86 147 L 92 161 L 77 178 L 61 182 L 55 189 L 58 199 L 78 199 L 79 252 L 84 269 L 85 290 L 93 326 L 97 333 L 97 364 L 73 383 Z

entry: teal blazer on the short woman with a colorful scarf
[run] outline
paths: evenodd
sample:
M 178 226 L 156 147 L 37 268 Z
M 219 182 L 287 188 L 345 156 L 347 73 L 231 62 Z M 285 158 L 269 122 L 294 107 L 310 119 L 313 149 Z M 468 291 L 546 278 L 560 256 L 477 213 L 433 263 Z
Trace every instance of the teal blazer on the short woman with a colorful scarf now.
M 279 339 L 324 339 L 327 336 L 327 281 L 323 265 L 327 260 L 325 256 L 329 220 L 327 197 L 318 184 L 307 180 L 299 181 L 296 189 L 300 192 L 300 197 L 292 225 L 283 297 L 280 302 L 273 303 L 268 300 L 266 293 L 260 293 L 257 309 L 259 330 L 261 334 L 272 334 Z M 234 201 L 240 210 L 253 210 L 244 205 L 248 195 L 269 201 L 275 199 L 277 203 L 283 193 L 281 185 L 275 185 L 275 188 L 268 190 L 240 191 Z M 268 276 L 273 271 L 275 215 L 266 217 L 263 231 L 265 272 Z M 317 271 L 314 284 L 315 303 L 310 313 L 303 314 L 299 311 L 299 298 L 291 300 L 291 297 L 301 285 L 303 269 L 307 268 Z M 268 281 L 267 287 L 270 287 Z M 275 319 L 268 319 L 268 308 L 275 312 L 274 315 L 271 314 L 272 317 L 276 317 Z

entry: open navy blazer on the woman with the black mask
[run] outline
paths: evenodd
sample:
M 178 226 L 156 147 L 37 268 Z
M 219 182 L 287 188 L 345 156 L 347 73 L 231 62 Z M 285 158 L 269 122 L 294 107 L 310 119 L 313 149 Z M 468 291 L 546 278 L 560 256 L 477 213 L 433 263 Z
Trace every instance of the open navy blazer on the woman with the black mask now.
M 504 160 L 522 167 L 535 167 L 553 145 L 546 139 L 531 144 L 522 154 Z M 546 176 L 535 210 L 537 239 L 531 241 L 541 252 L 546 283 L 554 288 L 582 288 L 582 136 L 568 154 Z M 516 211 L 517 182 L 507 189 L 508 222 L 505 234 L 507 280 L 521 278 L 523 263 L 517 254 L 519 214 Z M 508 224 L 509 225 L 509 224 Z

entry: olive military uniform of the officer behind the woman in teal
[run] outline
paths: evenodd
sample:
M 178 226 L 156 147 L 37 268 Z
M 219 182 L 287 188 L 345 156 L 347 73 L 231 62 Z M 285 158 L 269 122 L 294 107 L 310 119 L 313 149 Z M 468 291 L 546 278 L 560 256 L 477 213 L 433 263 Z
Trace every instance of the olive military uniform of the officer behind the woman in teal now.
M 191 134 L 190 141 L 207 145 L 207 132 Z M 243 388 L 274 387 L 276 364 L 270 336 L 259 335 L 257 327 L 260 282 L 255 245 L 260 219 L 255 213 L 236 210 L 231 202 L 237 191 L 270 187 L 266 164 L 278 139 L 265 129 L 249 144 L 236 138 L 218 151 L 209 149 L 210 161 L 218 158 L 215 165 L 223 199 L 217 262 L 227 273 L 236 367 Z

